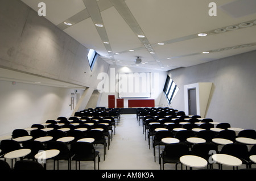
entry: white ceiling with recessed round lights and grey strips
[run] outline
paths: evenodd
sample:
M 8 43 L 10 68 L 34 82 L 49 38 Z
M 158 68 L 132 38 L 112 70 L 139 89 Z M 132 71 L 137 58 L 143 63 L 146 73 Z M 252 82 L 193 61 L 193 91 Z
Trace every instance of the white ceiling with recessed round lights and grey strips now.
M 42 2 L 21 1 L 35 11 Z M 46 3 L 45 18 L 86 48 L 95 49 L 109 64 L 167 71 L 255 50 L 256 0 L 242 1 L 215 0 L 217 16 L 208 14 L 212 0 L 43 2 Z M 72 23 L 72 26 L 64 22 Z M 253 24 L 239 27 L 245 22 Z M 102 23 L 104 27 L 96 27 L 95 23 Z M 239 28 L 214 32 L 233 25 Z M 208 33 L 208 36 L 197 36 L 201 32 Z M 109 44 L 104 44 L 104 41 Z M 209 53 L 203 54 L 203 51 Z M 135 64 L 137 57 L 142 58 L 142 64 Z

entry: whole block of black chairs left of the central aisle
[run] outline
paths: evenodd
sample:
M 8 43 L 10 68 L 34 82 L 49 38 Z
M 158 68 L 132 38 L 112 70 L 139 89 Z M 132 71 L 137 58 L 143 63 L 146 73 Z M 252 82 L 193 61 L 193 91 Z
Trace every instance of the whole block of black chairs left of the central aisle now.
M 74 126 L 71 123 L 79 123 L 79 125 Z M 95 120 L 97 119 L 97 121 Z M 108 119 L 108 120 L 105 120 Z M 111 121 L 110 121 L 110 120 Z M 25 141 L 22 142 L 22 147 L 20 146 L 20 142 L 17 142 L 15 140 L 2 140 L 0 144 L 0 149 L 1 149 L 1 156 L 3 157 L 4 154 L 9 153 L 10 151 L 21 149 L 21 148 L 28 148 L 31 149 L 31 153 L 26 156 L 28 159 L 34 159 L 34 155 L 38 153 L 39 150 L 46 150 L 46 149 L 58 149 L 61 150 L 60 154 L 54 157 L 53 159 L 58 161 L 58 168 L 59 168 L 59 160 L 64 159 L 68 161 L 68 169 L 71 168 L 71 156 L 72 160 L 76 161 L 76 169 L 77 169 L 77 162 L 79 162 L 79 169 L 80 169 L 80 161 L 87 161 L 87 159 L 94 158 L 92 161 L 94 161 L 94 169 L 95 169 L 95 158 L 96 156 L 98 157 L 98 162 L 100 161 L 100 155 L 99 151 L 96 151 L 95 149 L 92 149 L 93 145 L 98 145 L 102 144 L 104 145 L 104 160 L 105 160 L 105 154 L 106 154 L 106 148 L 110 145 L 110 137 L 113 139 L 113 134 L 110 136 L 109 131 L 113 133 L 112 126 L 114 125 L 115 127 L 115 119 L 112 116 L 108 117 L 96 117 L 94 116 L 93 118 L 89 117 L 79 117 L 77 118 L 76 116 L 69 117 L 69 120 L 67 120 L 66 117 L 58 117 L 57 120 L 47 120 L 47 123 L 50 123 L 47 125 L 47 128 L 53 128 L 52 131 L 43 131 L 42 129 L 45 128 L 44 125 L 42 124 L 33 124 L 31 127 L 38 128 L 35 130 L 30 131 L 30 134 L 28 134 L 28 131 L 25 129 L 15 129 L 12 134 L 12 138 L 17 138 L 17 137 L 22 137 L 22 136 L 32 136 L 32 140 L 30 141 Z M 62 127 L 59 127 L 57 123 L 64 123 Z M 93 125 L 87 125 L 86 123 L 93 123 Z M 104 125 L 100 123 L 108 123 L 109 125 Z M 69 128 L 70 131 L 68 132 L 63 132 L 58 130 L 59 128 Z M 75 130 L 76 128 L 87 128 L 87 131 L 77 131 Z M 102 128 L 104 131 L 97 131 L 97 130 L 92 130 L 93 128 Z M 38 137 L 43 137 L 43 136 L 52 136 L 53 139 L 51 141 L 48 141 L 44 144 L 39 141 L 34 141 Z M 71 142 L 64 143 L 60 141 L 56 141 L 57 139 L 65 136 L 72 136 L 75 139 Z M 94 142 L 91 144 L 92 146 L 89 146 L 88 143 L 86 142 L 77 142 L 77 140 L 80 140 L 82 138 L 94 138 Z M 108 137 L 108 142 L 106 142 L 106 137 Z M 86 146 L 84 146 L 87 144 Z M 72 146 L 73 145 L 73 146 Z M 79 146 L 76 146 L 79 145 Z M 68 154 L 68 149 L 69 148 L 69 154 Z M 86 154 L 81 154 L 81 153 L 89 153 L 86 151 L 86 148 L 88 150 L 92 151 L 93 155 L 95 154 L 95 157 L 93 155 L 89 155 L 88 157 Z M 75 148 L 79 149 L 76 150 Z M 81 150 L 84 150 L 81 152 Z M 22 164 L 20 162 L 17 162 L 18 165 Z M 35 160 L 32 160 L 31 162 L 35 162 Z M 29 161 L 27 161 L 24 164 L 28 165 Z M 33 163 L 31 163 L 32 165 Z M 36 163 L 35 163 L 36 164 Z M 54 161 L 54 167 L 55 167 L 55 161 Z M 98 163 L 99 167 L 99 163 Z

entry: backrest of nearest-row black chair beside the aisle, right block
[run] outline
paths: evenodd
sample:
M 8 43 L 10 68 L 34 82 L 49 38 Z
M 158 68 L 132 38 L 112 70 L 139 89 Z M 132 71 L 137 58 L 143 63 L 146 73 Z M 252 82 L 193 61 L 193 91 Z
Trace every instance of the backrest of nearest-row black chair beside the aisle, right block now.
M 164 155 L 172 157 L 172 159 L 179 159 L 189 152 L 188 145 L 184 143 L 168 144 L 164 148 Z

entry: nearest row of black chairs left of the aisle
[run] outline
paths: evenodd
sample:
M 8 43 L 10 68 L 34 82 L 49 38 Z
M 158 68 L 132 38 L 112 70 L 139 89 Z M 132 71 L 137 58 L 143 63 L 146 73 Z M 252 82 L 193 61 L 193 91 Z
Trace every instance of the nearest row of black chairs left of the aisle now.
M 57 169 L 59 169 L 59 161 L 64 160 L 68 161 L 68 170 L 71 169 L 71 161 L 80 162 L 81 161 L 93 161 L 94 170 L 96 169 L 96 158 L 98 158 L 98 169 L 100 169 L 100 152 L 94 149 L 93 144 L 89 142 L 72 142 L 70 148 L 67 144 L 61 141 L 48 141 L 46 144 L 43 144 L 39 141 L 26 141 L 20 146 L 20 144 L 14 140 L 3 140 L 3 146 L 9 146 L 9 150 L 18 150 L 18 149 L 31 149 L 31 153 L 26 155 L 23 159 L 15 163 L 14 170 L 43 170 L 44 167 L 35 160 L 34 156 L 42 150 L 51 150 L 57 149 L 60 151 L 58 155 L 53 158 L 53 165 L 55 169 L 55 162 L 57 161 Z M 95 144 L 100 144 L 100 142 L 95 142 Z M 2 145 L 2 144 L 1 144 Z M 15 148 L 14 148 L 15 145 Z M 0 170 L 10 170 L 11 167 L 6 161 L 0 162 Z

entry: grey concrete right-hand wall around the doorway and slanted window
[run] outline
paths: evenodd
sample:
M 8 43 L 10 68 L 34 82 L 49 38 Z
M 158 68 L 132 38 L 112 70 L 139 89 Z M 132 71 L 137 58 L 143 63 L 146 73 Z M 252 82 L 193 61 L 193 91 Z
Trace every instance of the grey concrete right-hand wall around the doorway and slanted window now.
M 171 103 L 184 110 L 184 85 L 212 82 L 205 117 L 228 122 L 232 127 L 256 129 L 256 51 L 222 58 L 197 66 L 170 70 L 168 74 L 180 88 Z M 165 104 L 162 95 L 160 103 Z

